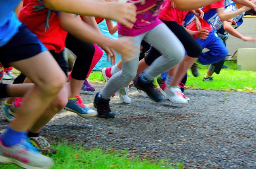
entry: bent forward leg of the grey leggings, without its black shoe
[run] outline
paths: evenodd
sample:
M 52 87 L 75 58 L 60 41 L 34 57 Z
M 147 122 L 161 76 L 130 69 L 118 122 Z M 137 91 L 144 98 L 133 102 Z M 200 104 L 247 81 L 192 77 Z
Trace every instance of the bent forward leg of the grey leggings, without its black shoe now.
M 145 80 L 153 81 L 157 75 L 175 67 L 184 58 L 182 43 L 165 24 L 150 30 L 144 40 L 163 53 L 143 72 L 142 77 Z

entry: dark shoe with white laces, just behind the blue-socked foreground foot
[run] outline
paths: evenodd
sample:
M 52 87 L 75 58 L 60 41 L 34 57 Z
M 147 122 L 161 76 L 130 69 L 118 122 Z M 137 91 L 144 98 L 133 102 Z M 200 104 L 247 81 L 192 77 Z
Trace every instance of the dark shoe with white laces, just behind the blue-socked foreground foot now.
M 44 138 L 42 136 L 39 137 L 29 137 L 30 143 L 36 147 L 37 149 L 40 149 L 42 154 L 56 154 L 56 150 L 52 149 L 50 147 L 50 143 L 48 142 L 49 140 L 47 138 Z

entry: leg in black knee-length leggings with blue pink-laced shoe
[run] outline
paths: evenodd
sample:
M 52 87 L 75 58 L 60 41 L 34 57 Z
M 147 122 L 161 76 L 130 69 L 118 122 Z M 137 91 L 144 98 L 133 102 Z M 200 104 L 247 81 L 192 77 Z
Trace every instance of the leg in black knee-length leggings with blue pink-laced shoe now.
M 71 34 L 68 34 L 66 38 L 66 46 L 76 55 L 77 58 L 71 73 L 68 96 L 69 100 L 65 109 L 68 111 L 73 111 L 81 117 L 96 116 L 97 112 L 95 110 L 86 108 L 83 101 L 79 97 L 82 85 L 92 63 L 95 52 L 94 45 L 81 41 Z

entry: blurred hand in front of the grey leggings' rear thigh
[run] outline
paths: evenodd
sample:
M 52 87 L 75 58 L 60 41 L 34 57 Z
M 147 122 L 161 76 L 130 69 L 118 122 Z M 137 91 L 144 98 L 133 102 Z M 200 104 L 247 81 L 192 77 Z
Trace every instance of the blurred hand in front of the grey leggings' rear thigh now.
M 122 37 L 112 41 L 112 48 L 121 54 L 122 61 L 128 62 L 135 59 L 140 50 L 131 37 Z

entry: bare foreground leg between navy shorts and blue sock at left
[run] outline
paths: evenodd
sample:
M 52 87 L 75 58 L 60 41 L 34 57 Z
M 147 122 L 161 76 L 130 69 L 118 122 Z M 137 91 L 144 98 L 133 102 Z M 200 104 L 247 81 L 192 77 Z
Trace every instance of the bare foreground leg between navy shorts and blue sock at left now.
M 10 125 L 12 130 L 27 131 L 28 126 L 35 123 L 61 90 L 66 80 L 65 74 L 48 51 L 10 65 L 35 83 L 35 86 L 26 93 L 21 107 L 17 110 L 16 118 Z M 52 69 L 54 71 L 50 72 Z

